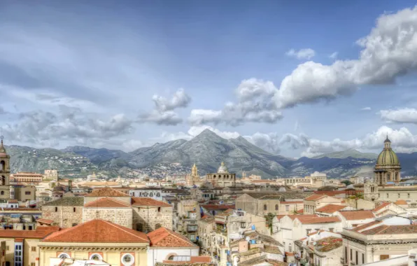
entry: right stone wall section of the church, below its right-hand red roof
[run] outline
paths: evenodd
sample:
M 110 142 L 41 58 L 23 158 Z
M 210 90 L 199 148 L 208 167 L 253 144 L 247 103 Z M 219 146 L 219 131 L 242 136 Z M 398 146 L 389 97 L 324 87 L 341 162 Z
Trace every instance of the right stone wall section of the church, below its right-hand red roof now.
M 156 225 L 172 230 L 172 207 L 133 207 L 133 229 L 150 232 Z

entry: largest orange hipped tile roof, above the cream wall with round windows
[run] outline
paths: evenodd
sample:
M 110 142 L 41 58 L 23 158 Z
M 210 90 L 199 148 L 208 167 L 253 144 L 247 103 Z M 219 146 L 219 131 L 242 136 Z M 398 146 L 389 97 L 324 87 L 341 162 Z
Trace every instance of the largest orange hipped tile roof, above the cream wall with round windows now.
M 11 231 L 11 230 L 10 230 Z M 43 239 L 44 242 L 70 243 L 148 243 L 143 232 L 125 228 L 100 219 L 80 223 L 72 228 L 55 232 Z

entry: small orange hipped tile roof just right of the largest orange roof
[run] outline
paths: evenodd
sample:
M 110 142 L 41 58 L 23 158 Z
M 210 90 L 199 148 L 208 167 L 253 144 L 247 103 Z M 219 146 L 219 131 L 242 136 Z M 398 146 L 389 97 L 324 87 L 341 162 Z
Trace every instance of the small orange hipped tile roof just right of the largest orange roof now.
M 158 228 L 157 230 L 148 233 L 147 236 L 150 240 L 150 246 L 160 246 L 165 248 L 198 247 L 187 237 L 184 237 L 183 235 L 180 235 L 167 228 Z

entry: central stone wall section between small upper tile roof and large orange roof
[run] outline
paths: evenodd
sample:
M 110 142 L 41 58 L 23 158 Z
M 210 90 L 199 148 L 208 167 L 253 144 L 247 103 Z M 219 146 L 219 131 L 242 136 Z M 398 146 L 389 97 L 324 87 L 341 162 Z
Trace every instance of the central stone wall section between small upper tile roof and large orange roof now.
M 84 208 L 83 223 L 102 219 L 132 229 L 132 208 Z

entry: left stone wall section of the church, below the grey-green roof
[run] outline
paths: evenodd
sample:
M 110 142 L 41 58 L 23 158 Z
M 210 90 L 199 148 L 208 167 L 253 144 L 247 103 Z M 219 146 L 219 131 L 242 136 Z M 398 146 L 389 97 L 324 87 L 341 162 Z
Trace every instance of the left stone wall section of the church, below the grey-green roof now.
M 71 228 L 83 222 L 83 207 L 81 206 L 43 206 L 42 218 L 55 221 L 53 225 Z

